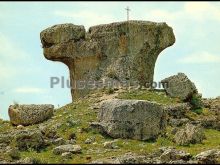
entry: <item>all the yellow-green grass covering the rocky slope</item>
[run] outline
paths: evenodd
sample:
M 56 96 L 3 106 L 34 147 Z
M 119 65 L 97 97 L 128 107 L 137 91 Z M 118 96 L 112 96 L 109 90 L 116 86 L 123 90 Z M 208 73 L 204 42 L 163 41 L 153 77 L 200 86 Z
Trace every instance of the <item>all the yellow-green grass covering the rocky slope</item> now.
M 94 94 L 94 93 L 93 93 Z M 96 96 L 101 96 L 97 93 Z M 71 133 L 76 134 L 76 144 L 82 147 L 82 153 L 73 155 L 72 159 L 63 159 L 60 155 L 54 155 L 52 153 L 54 145 L 47 147 L 41 152 L 36 151 L 25 151 L 21 152 L 21 157 L 32 157 L 36 161 L 41 163 L 89 163 L 92 160 L 97 160 L 106 157 L 119 156 L 127 152 L 133 152 L 141 155 L 145 155 L 156 151 L 163 146 L 174 146 L 177 149 L 184 150 L 193 155 L 198 154 L 208 149 L 218 148 L 220 149 L 220 131 L 206 129 L 205 135 L 207 137 L 203 144 L 193 144 L 188 147 L 177 146 L 172 141 L 172 135 L 170 134 L 172 127 L 167 127 L 169 136 L 158 137 L 156 141 L 138 141 L 131 139 L 118 139 L 115 144 L 119 149 L 105 149 L 103 143 L 106 141 L 112 141 L 114 139 L 103 136 L 98 132 L 90 129 L 89 123 L 97 120 L 96 109 L 90 109 L 90 106 L 98 102 L 98 97 L 88 96 L 86 99 L 79 99 L 74 103 L 68 104 L 62 108 L 56 110 L 55 115 L 52 119 L 45 121 L 49 126 L 53 126 L 57 123 L 60 127 L 57 128 L 57 134 L 63 137 L 65 140 L 68 139 Z M 162 104 L 173 104 L 179 102 L 178 99 L 172 99 L 165 96 L 164 92 L 155 92 L 148 90 L 138 90 L 131 92 L 123 92 L 119 94 L 119 98 L 123 99 L 141 99 L 148 101 L 156 101 Z M 202 116 L 208 116 L 209 111 L 203 109 L 202 114 L 198 115 L 194 112 L 188 114 L 192 118 L 198 119 Z M 11 130 L 9 122 L 0 121 L 0 133 L 3 129 Z M 2 123 L 4 123 L 2 125 Z M 35 128 L 37 125 L 29 126 L 28 128 Z M 95 138 L 95 143 L 85 144 L 87 138 Z

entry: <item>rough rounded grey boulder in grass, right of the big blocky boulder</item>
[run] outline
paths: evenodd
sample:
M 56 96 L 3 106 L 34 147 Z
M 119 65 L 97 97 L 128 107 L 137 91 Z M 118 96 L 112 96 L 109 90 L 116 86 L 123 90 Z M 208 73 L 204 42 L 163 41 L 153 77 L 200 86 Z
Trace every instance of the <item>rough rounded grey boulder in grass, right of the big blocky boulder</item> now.
M 180 129 L 174 136 L 174 141 L 178 145 L 189 145 L 202 143 L 205 139 L 204 130 L 201 126 L 195 126 L 187 123 L 185 128 Z

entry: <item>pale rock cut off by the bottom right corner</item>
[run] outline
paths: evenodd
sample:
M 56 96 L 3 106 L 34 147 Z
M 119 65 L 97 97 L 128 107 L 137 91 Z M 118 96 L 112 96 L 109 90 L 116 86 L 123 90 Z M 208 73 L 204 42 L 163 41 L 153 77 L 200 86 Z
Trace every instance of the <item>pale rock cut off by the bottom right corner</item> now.
M 220 150 L 212 149 L 201 152 L 195 156 L 199 164 L 218 164 L 220 163 Z

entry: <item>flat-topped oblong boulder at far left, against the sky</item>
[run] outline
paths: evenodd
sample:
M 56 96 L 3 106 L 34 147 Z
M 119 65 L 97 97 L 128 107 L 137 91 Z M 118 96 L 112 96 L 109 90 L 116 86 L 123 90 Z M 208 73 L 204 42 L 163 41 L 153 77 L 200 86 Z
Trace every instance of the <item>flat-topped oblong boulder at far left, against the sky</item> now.
M 43 122 L 53 116 L 54 106 L 42 105 L 10 105 L 8 114 L 14 125 L 32 125 Z

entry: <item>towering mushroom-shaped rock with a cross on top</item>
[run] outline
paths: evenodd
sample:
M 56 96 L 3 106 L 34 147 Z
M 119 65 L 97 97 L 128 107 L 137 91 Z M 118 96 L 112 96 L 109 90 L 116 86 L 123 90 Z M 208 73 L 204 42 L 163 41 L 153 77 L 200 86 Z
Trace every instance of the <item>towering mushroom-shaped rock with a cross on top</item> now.
M 44 56 L 69 67 L 73 97 L 89 90 L 88 85 L 78 89 L 78 80 L 152 83 L 158 55 L 175 42 L 166 23 L 148 21 L 97 25 L 88 32 L 83 26 L 59 24 L 43 30 L 40 38 Z

